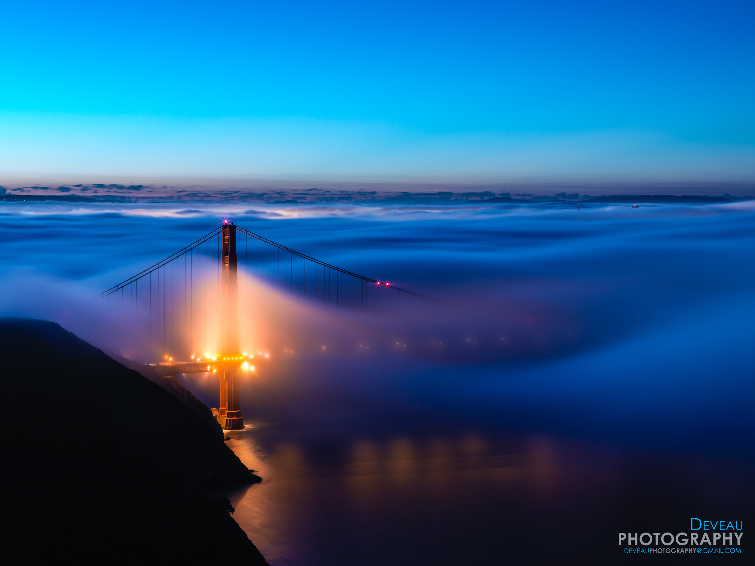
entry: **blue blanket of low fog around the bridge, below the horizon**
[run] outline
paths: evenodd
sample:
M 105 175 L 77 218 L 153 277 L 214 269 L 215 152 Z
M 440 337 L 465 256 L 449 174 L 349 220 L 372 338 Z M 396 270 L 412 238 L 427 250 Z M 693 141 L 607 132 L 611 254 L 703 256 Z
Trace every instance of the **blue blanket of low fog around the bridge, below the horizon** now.
M 153 354 L 123 313 L 91 297 L 209 232 L 221 214 L 448 303 L 356 315 L 246 288 L 257 300 L 246 313 L 256 345 L 271 359 L 245 383 L 245 410 L 259 416 L 409 411 L 690 446 L 713 438 L 705 423 L 752 424 L 740 406 L 752 387 L 751 202 L 580 211 L 26 203 L 3 213 L 3 314 L 58 321 L 143 361 Z M 214 404 L 212 380 L 186 383 Z

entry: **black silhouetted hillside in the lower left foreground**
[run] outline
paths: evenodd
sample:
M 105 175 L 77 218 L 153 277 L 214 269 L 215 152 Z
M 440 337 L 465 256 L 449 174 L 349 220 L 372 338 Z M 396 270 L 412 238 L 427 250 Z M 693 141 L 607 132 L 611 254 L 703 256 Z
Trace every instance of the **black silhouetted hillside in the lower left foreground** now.
M 9 561 L 267 564 L 211 489 L 258 481 L 173 395 L 59 325 L 0 318 Z

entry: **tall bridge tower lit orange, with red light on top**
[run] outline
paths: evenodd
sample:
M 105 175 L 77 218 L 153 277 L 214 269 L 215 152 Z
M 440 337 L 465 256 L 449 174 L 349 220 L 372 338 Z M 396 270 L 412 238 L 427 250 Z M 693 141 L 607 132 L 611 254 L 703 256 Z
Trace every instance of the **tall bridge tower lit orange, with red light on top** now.
M 217 420 L 223 429 L 243 429 L 239 361 L 239 262 L 236 226 L 223 226 L 223 265 L 220 278 L 220 406 Z

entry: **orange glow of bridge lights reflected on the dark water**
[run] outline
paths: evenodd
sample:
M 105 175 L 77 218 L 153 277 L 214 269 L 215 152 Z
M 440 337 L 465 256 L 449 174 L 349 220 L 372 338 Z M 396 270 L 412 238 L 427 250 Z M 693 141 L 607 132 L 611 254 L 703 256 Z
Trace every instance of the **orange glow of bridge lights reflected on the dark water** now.
M 255 440 L 258 432 L 230 433 L 229 447 L 263 482 L 229 497 L 233 517 L 271 564 L 321 560 L 309 541 L 327 536 L 322 514 L 334 508 L 356 524 L 392 524 L 407 514 L 445 515 L 467 499 L 486 497 L 486 490 L 516 494 L 538 483 L 523 468 L 480 454 L 488 444 L 477 435 L 359 438 L 347 446 L 344 460 L 322 464 L 290 442 L 266 452 Z

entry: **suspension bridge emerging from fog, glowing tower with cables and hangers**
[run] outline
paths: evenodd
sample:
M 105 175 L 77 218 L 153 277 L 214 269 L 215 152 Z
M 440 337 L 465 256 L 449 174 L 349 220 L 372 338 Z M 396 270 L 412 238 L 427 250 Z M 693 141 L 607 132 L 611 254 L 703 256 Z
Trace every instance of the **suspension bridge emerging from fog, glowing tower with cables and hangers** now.
M 241 300 L 239 275 L 247 291 Z M 159 360 L 149 365 L 160 374 L 217 374 L 219 403 L 213 414 L 223 429 L 239 430 L 244 428 L 240 380 L 258 363 L 260 329 L 249 301 L 260 285 L 306 303 L 359 312 L 434 302 L 285 248 L 228 220 L 98 298 L 125 307 L 136 319 L 141 355 Z

